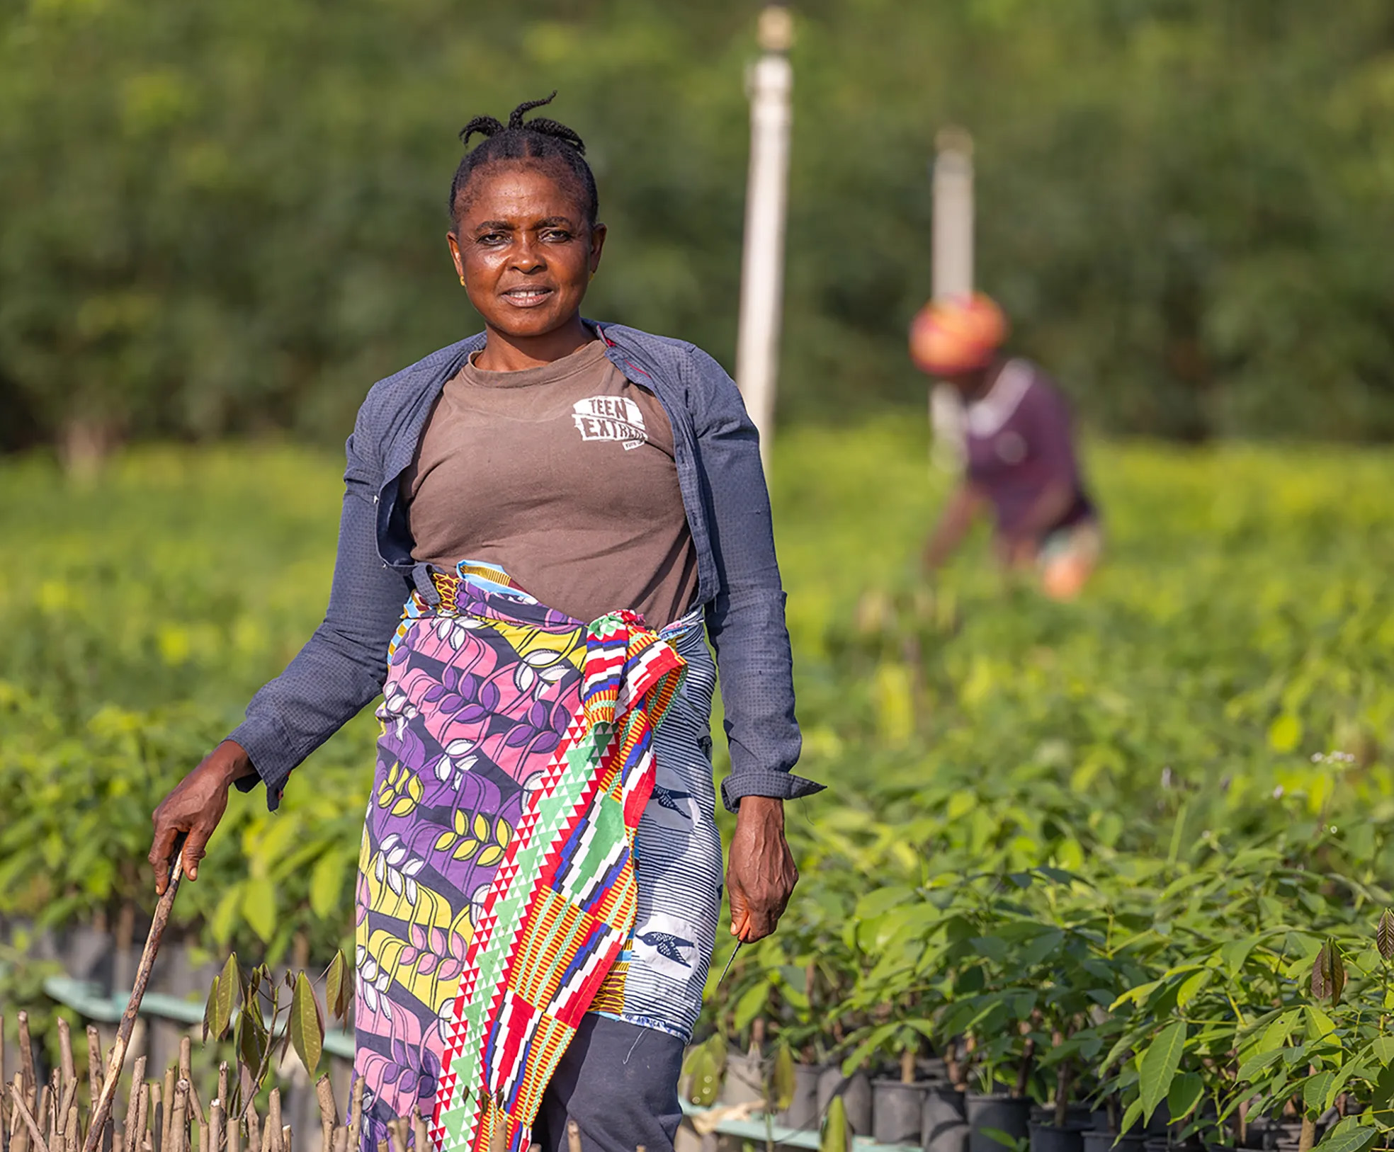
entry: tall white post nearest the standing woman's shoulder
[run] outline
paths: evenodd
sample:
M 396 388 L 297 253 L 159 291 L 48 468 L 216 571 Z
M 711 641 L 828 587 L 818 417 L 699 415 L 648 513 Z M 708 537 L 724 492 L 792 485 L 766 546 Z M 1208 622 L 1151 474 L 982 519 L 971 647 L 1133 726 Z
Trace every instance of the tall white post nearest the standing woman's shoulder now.
M 760 14 L 760 49 L 750 71 L 750 176 L 740 266 L 740 327 L 736 383 L 760 430 L 760 458 L 769 471 L 775 382 L 779 369 L 779 312 L 783 294 L 785 202 L 789 184 L 789 96 L 793 68 L 789 10 L 771 4 Z

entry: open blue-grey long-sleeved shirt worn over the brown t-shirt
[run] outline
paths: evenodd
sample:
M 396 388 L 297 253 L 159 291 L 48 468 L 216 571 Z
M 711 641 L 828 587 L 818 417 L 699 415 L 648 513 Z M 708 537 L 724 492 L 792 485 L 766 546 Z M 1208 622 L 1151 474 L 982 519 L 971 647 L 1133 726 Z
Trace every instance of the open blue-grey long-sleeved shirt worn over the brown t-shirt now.
M 693 344 L 618 325 L 590 326 L 616 368 L 652 390 L 673 426 L 677 481 L 697 549 L 697 599 L 717 653 L 730 745 L 722 800 L 735 809 L 746 795 L 792 800 L 818 791 L 820 784 L 790 772 L 800 741 L 785 595 L 758 437 L 740 393 Z M 432 352 L 379 380 L 358 410 L 346 446 L 325 620 L 287 669 L 252 696 L 247 719 L 230 735 L 251 756 L 272 808 L 291 770 L 382 691 L 388 644 L 411 589 L 438 599 L 428 566 L 411 559 L 397 481 L 445 382 L 482 347 L 478 334 Z

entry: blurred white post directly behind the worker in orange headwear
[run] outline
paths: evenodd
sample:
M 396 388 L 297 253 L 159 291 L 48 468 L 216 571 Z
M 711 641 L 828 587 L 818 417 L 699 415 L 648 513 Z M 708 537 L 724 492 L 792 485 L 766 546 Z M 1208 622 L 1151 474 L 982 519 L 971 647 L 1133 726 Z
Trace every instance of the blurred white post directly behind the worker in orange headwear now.
M 973 138 L 962 128 L 942 128 L 934 143 L 930 291 L 944 299 L 973 291 Z M 963 404 L 949 384 L 930 389 L 930 425 L 934 462 L 956 472 L 963 461 Z

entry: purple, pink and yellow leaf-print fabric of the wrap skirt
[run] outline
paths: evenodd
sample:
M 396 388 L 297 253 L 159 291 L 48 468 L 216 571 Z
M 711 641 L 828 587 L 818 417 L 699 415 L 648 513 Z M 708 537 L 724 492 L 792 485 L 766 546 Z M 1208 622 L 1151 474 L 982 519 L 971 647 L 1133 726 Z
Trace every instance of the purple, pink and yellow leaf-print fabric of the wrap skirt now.
M 506 591 L 461 582 L 457 613 L 418 596 L 389 659 L 357 890 L 354 1070 L 362 1148 L 441 1075 L 473 917 L 530 781 L 580 702 L 585 631 Z

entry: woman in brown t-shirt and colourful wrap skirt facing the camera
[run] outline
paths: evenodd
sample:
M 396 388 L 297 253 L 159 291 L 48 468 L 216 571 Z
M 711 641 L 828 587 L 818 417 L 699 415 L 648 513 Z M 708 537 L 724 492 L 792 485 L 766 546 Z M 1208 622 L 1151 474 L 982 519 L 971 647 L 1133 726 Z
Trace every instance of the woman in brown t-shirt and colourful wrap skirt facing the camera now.
M 555 93 L 553 93 L 555 96 Z M 348 439 L 323 624 L 156 809 L 162 887 L 227 802 L 383 692 L 357 892 L 362 1148 L 671 1148 L 721 907 L 708 734 L 721 670 L 732 931 L 797 873 L 789 639 L 756 430 L 690 344 L 583 320 L 601 262 L 581 139 L 473 120 L 450 255 L 485 330 L 379 382 Z M 406 602 L 406 607 L 403 607 Z M 679 683 L 680 681 L 680 683 Z M 533 1131 L 535 1124 L 535 1131 Z

